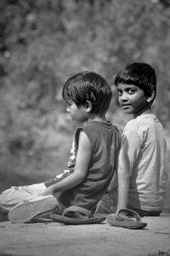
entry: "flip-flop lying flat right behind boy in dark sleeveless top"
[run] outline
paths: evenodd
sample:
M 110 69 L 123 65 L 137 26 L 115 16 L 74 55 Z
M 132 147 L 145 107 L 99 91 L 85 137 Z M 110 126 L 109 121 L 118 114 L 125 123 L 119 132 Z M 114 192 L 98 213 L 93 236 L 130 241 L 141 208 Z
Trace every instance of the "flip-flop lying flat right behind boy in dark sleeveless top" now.
M 93 214 L 87 209 L 77 206 L 65 208 L 62 215 L 51 214 L 50 217 L 61 224 L 99 224 L 105 220 L 105 216 Z

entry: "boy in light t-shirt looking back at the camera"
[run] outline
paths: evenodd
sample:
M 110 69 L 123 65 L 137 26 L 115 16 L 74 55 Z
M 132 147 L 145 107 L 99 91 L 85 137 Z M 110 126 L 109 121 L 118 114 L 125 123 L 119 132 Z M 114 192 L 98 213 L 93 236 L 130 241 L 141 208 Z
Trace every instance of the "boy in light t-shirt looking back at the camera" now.
M 151 104 L 156 73 L 146 63 L 127 64 L 115 79 L 118 100 L 133 119 L 122 133 L 118 164 L 117 212 L 129 208 L 143 216 L 159 216 L 166 192 L 166 140 Z

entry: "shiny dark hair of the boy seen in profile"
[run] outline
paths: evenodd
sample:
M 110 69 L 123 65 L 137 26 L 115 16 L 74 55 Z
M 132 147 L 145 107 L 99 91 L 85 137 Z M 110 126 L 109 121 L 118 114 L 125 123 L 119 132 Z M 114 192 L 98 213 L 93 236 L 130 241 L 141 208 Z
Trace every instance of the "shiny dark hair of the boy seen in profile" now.
M 105 113 L 111 102 L 111 87 L 98 73 L 84 71 L 68 79 L 63 87 L 65 102 L 75 102 L 77 107 L 92 103 L 92 113 Z

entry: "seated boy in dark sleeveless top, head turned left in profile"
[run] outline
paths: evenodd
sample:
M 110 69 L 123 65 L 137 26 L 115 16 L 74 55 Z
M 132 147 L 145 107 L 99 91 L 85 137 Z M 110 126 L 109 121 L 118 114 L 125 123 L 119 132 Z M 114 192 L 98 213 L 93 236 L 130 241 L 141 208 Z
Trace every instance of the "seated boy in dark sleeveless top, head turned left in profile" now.
M 105 118 L 112 96 L 109 84 L 97 73 L 82 72 L 66 81 L 62 95 L 71 119 L 87 123 L 75 132 L 74 172 L 12 208 L 8 218 L 13 223 L 27 222 L 55 207 L 59 214 L 71 206 L 94 213 L 116 170 L 121 137 Z

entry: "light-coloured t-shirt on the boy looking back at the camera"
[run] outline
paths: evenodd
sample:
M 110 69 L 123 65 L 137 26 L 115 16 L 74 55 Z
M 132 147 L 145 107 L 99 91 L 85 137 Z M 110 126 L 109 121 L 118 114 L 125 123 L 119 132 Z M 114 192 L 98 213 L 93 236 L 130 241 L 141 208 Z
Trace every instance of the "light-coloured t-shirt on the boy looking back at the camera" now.
M 166 148 L 164 131 L 155 114 L 140 115 L 125 126 L 119 168 L 129 172 L 129 207 L 162 210 L 167 180 Z

